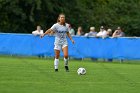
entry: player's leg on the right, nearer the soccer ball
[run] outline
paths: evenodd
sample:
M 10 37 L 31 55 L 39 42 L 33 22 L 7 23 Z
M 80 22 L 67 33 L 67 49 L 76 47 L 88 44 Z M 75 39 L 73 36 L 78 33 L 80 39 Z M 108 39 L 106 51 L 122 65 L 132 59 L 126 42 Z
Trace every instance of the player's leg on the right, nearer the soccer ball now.
M 64 53 L 65 69 L 66 69 L 66 71 L 69 71 L 69 68 L 68 68 L 68 46 L 67 45 L 63 46 L 62 50 L 63 50 L 63 53 Z

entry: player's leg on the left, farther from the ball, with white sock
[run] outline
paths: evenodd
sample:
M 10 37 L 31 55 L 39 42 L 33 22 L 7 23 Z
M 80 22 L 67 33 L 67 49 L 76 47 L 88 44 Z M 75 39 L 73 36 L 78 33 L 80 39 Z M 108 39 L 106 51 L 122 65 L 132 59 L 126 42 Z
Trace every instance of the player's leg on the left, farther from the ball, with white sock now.
M 55 45 L 54 51 L 55 51 L 54 69 L 57 72 L 58 71 L 58 64 L 59 64 L 59 56 L 60 56 L 60 46 Z

